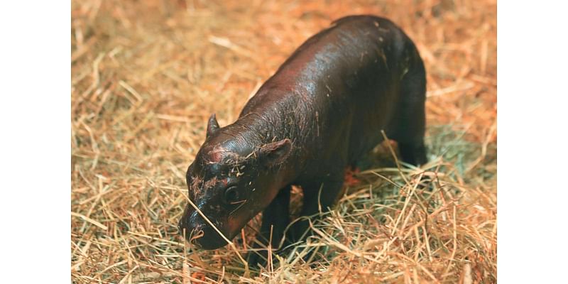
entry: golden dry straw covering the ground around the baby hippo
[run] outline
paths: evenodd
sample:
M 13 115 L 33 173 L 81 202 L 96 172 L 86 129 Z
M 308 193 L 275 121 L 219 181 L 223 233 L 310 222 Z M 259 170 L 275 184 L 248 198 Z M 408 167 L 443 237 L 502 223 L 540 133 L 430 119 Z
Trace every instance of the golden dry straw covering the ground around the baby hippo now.
M 280 265 L 239 260 L 258 218 L 237 251 L 190 251 L 176 224 L 207 117 L 234 121 L 303 40 L 356 13 L 417 43 L 431 162 L 398 169 L 379 146 L 386 163 L 354 173 Z M 71 36 L 75 283 L 496 282 L 496 1 L 72 1 Z

